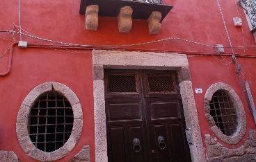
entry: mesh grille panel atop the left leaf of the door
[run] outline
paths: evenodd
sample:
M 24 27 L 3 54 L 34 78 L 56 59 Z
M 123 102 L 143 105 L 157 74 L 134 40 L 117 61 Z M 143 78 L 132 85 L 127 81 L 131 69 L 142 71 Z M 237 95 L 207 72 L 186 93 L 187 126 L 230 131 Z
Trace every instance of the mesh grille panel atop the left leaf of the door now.
M 109 92 L 138 92 L 136 75 L 108 75 Z

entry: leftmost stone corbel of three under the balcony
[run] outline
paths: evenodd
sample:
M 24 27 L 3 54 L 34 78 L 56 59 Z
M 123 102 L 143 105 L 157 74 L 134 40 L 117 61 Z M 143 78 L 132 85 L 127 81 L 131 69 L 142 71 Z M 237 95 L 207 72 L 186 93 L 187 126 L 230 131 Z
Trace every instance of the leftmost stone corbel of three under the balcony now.
M 99 6 L 91 5 L 86 7 L 86 29 L 97 30 Z

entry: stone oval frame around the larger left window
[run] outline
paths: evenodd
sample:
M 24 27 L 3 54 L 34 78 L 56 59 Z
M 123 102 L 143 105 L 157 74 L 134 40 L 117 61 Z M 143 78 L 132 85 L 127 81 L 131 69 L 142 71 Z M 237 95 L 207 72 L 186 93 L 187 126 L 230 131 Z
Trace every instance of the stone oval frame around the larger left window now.
M 52 90 L 58 91 L 58 93 L 61 93 L 70 102 L 74 114 L 74 122 L 70 138 L 68 138 L 63 147 L 60 147 L 54 152 L 43 152 L 35 147 L 35 145 L 33 145 L 31 142 L 27 126 L 29 121 L 29 113 L 35 101 L 42 93 Z M 79 141 L 82 127 L 83 113 L 77 95 L 64 84 L 58 82 L 45 82 L 30 91 L 23 100 L 17 115 L 16 134 L 22 150 L 24 150 L 27 155 L 31 156 L 31 158 L 38 161 L 56 161 L 66 156 L 74 149 L 74 146 L 77 145 L 77 142 Z

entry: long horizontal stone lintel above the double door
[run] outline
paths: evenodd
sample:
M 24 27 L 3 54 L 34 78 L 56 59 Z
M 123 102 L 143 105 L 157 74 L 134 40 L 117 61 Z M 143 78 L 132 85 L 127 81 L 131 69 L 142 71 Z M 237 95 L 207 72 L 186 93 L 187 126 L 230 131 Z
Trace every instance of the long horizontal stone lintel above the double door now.
M 180 67 L 188 67 L 189 61 L 188 57 L 183 54 L 172 53 L 170 55 L 170 53 L 93 50 L 93 64 L 122 66 L 122 68 L 130 68 L 131 66 L 147 68 L 150 66 L 164 66 L 179 69 Z M 130 66 L 124 66 L 127 64 Z

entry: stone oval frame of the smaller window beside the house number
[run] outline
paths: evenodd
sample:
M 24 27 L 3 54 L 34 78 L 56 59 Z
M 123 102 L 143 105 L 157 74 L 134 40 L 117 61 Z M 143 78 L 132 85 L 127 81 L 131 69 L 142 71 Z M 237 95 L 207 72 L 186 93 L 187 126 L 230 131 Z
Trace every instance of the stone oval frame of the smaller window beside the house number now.
M 214 93 L 220 89 L 227 91 L 227 94 L 230 96 L 230 100 L 234 102 L 234 108 L 237 110 L 237 130 L 236 132 L 234 132 L 234 134 L 232 134 L 232 136 L 226 136 L 225 134 L 223 134 L 223 132 L 221 132 L 221 129 L 216 126 L 214 118 L 212 118 L 212 116 L 210 115 L 211 109 L 209 102 L 211 101 Z M 241 141 L 241 139 L 243 138 L 244 134 L 246 134 L 246 112 L 244 111 L 243 103 L 241 102 L 239 96 L 234 91 L 234 89 L 232 89 L 230 85 L 223 82 L 212 84 L 205 93 L 204 102 L 205 116 L 207 118 L 209 126 L 211 127 L 211 131 L 215 134 L 215 136 L 217 136 L 224 143 L 232 145 L 239 143 L 239 141 Z

